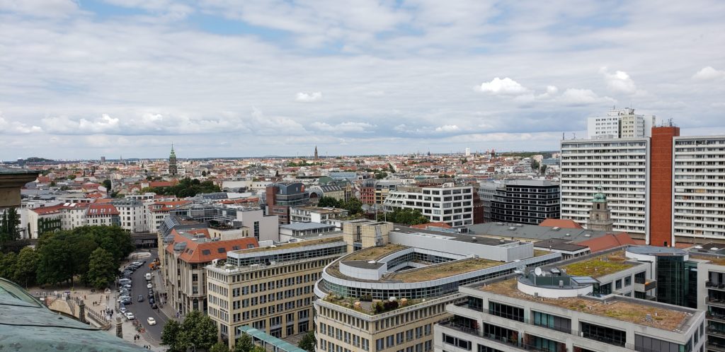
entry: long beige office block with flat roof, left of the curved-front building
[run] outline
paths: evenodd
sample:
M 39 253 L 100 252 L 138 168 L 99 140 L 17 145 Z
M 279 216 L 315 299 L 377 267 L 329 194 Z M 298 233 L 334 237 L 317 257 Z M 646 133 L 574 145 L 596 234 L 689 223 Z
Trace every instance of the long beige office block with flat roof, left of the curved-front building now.
M 227 248 L 231 249 L 231 248 Z M 312 329 L 315 281 L 347 253 L 340 235 L 230 251 L 207 265 L 209 316 L 230 346 L 249 326 L 276 338 Z

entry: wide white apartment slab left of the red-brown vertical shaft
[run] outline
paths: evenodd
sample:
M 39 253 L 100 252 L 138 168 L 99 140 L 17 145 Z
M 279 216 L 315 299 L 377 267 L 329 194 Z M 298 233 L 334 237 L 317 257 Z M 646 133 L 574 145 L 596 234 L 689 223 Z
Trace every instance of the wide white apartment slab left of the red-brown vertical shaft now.
M 592 196 L 608 201 L 613 230 L 642 235 L 648 231 L 650 138 L 561 141 L 561 218 L 586 226 Z

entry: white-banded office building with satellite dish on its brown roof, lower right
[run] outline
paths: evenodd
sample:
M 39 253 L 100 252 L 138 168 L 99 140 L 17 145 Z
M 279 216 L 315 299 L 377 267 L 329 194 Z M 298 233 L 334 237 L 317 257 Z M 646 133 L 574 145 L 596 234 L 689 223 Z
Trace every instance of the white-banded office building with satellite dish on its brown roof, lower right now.
M 560 269 L 517 276 L 461 287 L 435 351 L 704 351 L 704 311 L 596 293 Z

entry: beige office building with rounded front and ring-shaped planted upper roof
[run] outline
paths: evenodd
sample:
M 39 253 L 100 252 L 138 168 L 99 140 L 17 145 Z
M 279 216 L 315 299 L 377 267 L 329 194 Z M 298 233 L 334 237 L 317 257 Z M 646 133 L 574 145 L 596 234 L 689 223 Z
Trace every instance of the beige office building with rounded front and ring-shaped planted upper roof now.
M 543 265 L 531 243 L 394 227 L 344 225 L 348 248 L 315 284 L 317 351 L 433 351 L 433 325 L 463 301 L 457 288 Z

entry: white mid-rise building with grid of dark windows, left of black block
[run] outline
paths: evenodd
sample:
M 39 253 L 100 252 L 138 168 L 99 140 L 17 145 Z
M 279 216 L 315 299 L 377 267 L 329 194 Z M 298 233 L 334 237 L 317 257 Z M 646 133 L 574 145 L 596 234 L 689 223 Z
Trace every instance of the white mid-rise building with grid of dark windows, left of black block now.
M 398 187 L 389 192 L 384 209 L 415 209 L 431 222 L 445 222 L 454 227 L 472 225 L 473 186 L 443 183 Z

